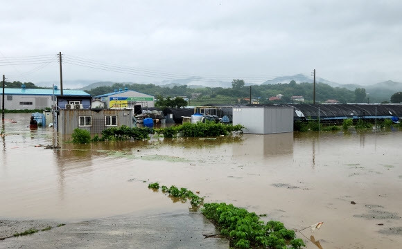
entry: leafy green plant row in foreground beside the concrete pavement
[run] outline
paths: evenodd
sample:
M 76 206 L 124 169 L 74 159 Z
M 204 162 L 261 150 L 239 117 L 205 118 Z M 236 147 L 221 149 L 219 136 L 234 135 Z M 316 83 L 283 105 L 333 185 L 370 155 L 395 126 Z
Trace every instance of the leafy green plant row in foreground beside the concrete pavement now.
M 148 187 L 158 190 L 159 183 L 150 183 Z M 299 249 L 306 246 L 302 239 L 295 239 L 295 231 L 286 229 L 279 221 L 264 223 L 254 212 L 236 208 L 232 204 L 204 203 L 204 198 L 184 187 L 179 189 L 175 185 L 163 185 L 161 190 L 171 197 L 191 199 L 191 205 L 196 210 L 204 205 L 202 214 L 216 225 L 220 234 L 229 239 L 231 248 Z

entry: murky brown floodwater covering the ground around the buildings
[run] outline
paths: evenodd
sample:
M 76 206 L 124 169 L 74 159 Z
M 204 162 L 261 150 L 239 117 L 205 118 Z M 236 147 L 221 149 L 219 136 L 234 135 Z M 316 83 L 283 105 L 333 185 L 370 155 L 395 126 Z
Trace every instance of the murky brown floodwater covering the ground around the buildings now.
M 157 181 L 291 229 L 323 221 L 320 230 L 297 232 L 307 248 L 402 243 L 401 131 L 73 145 L 49 127 L 30 131 L 29 116 L 6 114 L 3 124 L 0 219 L 73 222 L 189 205 L 148 190 Z

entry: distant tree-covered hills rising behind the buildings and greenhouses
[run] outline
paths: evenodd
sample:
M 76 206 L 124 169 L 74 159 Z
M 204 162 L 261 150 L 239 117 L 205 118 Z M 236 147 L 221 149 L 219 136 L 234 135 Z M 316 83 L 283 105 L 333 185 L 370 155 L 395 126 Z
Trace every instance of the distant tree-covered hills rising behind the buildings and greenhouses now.
M 139 91 L 154 96 L 161 96 L 161 98 L 168 98 L 172 96 L 186 96 L 191 98 L 192 93 L 200 93 L 200 96 L 195 99 L 191 99 L 189 105 L 204 105 L 209 103 L 216 104 L 235 104 L 238 103 L 238 99 L 250 98 L 250 87 L 245 86 L 243 80 L 234 80 L 231 88 L 222 87 L 204 87 L 198 89 L 190 89 L 186 85 L 183 86 L 156 86 L 155 84 L 119 84 L 116 83 L 113 86 L 100 86 L 87 93 L 96 96 L 104 93 L 112 93 L 114 89 L 124 89 L 127 87 L 130 90 Z M 331 87 L 327 84 L 317 83 L 316 92 L 320 93 L 316 95 L 316 102 L 324 102 L 329 99 L 338 100 L 341 103 L 356 102 L 358 97 L 362 102 L 366 102 L 361 96 L 362 90 L 358 91 L 358 96 L 355 91 L 348 90 L 346 88 Z M 313 84 L 290 82 L 289 84 L 261 84 L 252 86 L 252 98 L 259 98 L 261 104 L 272 103 L 268 99 L 270 97 L 282 94 L 281 100 L 275 100 L 278 103 L 290 103 L 292 102 L 292 95 L 302 95 L 306 102 L 313 102 Z M 372 101 L 381 102 L 383 98 L 377 98 L 377 93 L 371 93 L 370 98 Z M 389 98 L 389 95 L 387 96 Z M 166 106 L 168 106 L 166 104 Z M 176 105 L 175 105 L 176 106 Z

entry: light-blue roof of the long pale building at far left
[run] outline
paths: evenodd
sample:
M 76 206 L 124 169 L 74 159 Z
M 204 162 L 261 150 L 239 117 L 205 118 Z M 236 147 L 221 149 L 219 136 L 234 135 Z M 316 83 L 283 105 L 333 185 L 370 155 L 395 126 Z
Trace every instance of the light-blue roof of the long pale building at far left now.
M 0 89 L 1 90 L 1 89 Z M 0 91 L 1 94 L 1 91 Z M 10 89 L 5 88 L 4 94 L 7 95 L 53 95 L 53 89 Z M 54 91 L 55 96 L 60 96 L 60 89 Z M 86 96 L 90 97 L 89 93 L 82 90 L 63 90 L 63 96 Z

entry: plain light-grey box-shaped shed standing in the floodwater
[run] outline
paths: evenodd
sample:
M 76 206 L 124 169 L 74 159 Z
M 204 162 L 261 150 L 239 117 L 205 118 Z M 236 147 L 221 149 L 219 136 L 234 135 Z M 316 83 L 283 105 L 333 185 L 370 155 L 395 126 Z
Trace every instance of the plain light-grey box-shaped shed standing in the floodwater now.
M 234 107 L 233 124 L 243 125 L 244 133 L 293 132 L 293 112 L 293 107 Z

